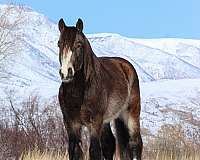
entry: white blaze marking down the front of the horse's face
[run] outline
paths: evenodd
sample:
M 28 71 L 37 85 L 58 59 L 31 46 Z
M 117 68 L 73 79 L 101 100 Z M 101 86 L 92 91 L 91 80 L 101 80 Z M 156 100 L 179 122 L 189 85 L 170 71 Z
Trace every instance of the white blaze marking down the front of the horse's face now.
M 61 58 L 61 73 L 64 75 L 64 78 L 68 75 L 68 69 L 72 68 L 72 73 L 74 73 L 74 68 L 71 63 L 71 57 L 72 57 L 72 51 L 71 49 L 64 48 L 63 50 L 63 56 Z

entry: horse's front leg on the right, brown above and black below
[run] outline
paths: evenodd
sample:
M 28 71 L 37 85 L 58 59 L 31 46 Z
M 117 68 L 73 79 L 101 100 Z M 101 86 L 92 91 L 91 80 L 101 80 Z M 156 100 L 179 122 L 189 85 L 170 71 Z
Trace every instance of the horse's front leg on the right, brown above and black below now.
M 89 156 L 90 160 L 103 160 L 103 154 L 101 149 L 101 125 L 92 125 L 90 128 L 90 148 Z

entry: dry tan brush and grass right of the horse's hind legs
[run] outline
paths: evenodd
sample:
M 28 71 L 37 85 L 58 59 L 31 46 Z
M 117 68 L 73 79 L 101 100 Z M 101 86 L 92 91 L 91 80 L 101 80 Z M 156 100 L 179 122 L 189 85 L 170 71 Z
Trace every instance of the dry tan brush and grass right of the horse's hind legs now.
M 181 125 L 163 125 L 157 136 L 147 137 L 143 159 L 199 160 L 200 144 L 194 141 L 185 137 Z

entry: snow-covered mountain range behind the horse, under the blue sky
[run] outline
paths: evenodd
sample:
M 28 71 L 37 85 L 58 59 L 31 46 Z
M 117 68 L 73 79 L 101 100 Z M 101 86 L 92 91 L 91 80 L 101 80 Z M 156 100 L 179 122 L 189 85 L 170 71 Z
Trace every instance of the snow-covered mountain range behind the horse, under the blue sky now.
M 20 96 L 36 92 L 49 98 L 60 85 L 57 24 L 30 8 L 24 14 L 26 23 L 18 30 L 24 47 L 0 72 L 0 77 L 9 75 L 1 78 L 0 93 L 15 89 Z M 133 39 L 110 33 L 86 36 L 98 56 L 120 56 L 136 68 L 143 128 L 154 134 L 170 123 L 183 125 L 188 135 L 200 131 L 200 40 Z

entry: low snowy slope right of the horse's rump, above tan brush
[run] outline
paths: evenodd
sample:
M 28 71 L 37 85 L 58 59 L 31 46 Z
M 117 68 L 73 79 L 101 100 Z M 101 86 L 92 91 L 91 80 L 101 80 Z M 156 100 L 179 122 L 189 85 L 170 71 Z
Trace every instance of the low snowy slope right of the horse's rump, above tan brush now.
M 200 118 L 200 79 L 162 80 L 141 83 L 142 124 L 152 133 L 163 124 L 188 126 Z M 198 125 L 194 125 L 199 127 Z

